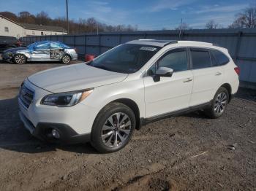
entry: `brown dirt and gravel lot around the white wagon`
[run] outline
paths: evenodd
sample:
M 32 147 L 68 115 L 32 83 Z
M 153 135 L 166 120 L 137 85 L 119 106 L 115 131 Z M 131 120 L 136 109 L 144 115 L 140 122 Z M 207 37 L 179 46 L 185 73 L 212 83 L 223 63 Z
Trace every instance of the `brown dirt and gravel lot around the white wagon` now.
M 160 120 L 101 155 L 90 144 L 42 143 L 18 119 L 20 83 L 56 66 L 0 64 L 0 190 L 256 190 L 255 91 L 240 89 L 217 120 Z

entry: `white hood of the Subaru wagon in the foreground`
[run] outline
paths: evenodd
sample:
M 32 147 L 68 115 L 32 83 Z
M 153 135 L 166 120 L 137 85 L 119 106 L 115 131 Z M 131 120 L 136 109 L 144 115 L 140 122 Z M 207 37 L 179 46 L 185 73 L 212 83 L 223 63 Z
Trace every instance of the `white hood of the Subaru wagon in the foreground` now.
M 99 87 L 123 81 L 128 74 L 116 73 L 78 63 L 40 71 L 28 77 L 38 87 L 52 93 L 61 93 Z

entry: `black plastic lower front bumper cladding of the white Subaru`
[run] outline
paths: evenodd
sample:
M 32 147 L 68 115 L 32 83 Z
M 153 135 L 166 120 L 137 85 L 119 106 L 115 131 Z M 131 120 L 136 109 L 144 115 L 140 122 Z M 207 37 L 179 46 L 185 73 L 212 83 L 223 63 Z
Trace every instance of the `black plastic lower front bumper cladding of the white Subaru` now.
M 69 127 L 69 125 L 51 122 L 39 122 L 37 127 L 22 113 L 19 112 L 20 120 L 23 122 L 25 128 L 29 130 L 31 135 L 37 137 L 42 141 L 52 143 L 76 144 L 86 143 L 91 140 L 91 133 L 78 134 Z M 57 130 L 60 138 L 56 139 L 52 136 L 51 130 Z

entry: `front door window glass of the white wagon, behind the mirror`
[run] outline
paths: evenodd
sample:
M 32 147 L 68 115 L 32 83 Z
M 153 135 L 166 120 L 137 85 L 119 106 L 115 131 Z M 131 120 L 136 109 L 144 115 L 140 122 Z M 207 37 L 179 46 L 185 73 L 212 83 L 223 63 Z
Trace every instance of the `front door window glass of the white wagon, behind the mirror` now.
M 157 67 L 167 67 L 174 72 L 187 70 L 187 50 L 185 48 L 170 50 L 159 59 Z

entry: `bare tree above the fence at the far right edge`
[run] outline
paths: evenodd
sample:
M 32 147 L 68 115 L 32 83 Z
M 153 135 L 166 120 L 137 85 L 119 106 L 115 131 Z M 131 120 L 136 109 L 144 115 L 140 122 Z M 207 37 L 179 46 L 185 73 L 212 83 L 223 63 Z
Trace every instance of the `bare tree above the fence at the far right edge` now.
M 256 4 L 244 9 L 244 12 L 238 13 L 236 20 L 229 28 L 256 28 Z

